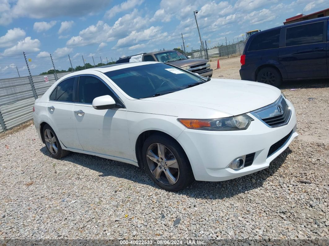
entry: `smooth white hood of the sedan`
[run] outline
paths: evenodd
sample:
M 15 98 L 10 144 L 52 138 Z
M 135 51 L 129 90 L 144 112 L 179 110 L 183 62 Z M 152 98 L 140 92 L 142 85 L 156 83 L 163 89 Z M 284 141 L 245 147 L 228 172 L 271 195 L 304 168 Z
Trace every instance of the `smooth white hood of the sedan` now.
M 179 117 L 221 118 L 264 107 L 276 101 L 280 94 L 278 88 L 263 83 L 211 79 L 191 88 L 139 101 L 154 102 L 158 114 L 163 111 L 163 114 Z M 167 105 L 161 106 L 159 103 Z M 152 111 L 153 107 L 148 108 Z

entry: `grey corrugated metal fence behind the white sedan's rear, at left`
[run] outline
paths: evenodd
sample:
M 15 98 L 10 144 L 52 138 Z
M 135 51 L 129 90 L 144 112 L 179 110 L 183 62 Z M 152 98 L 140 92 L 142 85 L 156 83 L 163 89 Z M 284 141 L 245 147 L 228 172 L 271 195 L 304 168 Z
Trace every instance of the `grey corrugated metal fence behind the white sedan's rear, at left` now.
M 57 79 L 67 73 L 57 74 Z M 57 80 L 55 74 L 0 79 L 0 132 L 32 119 L 34 101 Z

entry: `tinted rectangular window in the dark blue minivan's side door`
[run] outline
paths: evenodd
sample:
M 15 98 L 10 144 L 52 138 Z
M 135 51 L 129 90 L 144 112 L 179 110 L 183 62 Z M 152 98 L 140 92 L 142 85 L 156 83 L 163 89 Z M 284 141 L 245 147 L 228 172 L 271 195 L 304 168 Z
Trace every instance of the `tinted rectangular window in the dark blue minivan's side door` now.
M 323 21 L 287 28 L 286 46 L 323 42 Z

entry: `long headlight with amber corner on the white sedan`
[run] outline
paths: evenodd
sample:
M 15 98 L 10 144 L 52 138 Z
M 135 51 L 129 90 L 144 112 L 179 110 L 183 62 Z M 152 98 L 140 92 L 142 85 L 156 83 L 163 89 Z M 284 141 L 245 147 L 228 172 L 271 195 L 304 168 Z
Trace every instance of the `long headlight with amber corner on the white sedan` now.
M 177 119 L 178 122 L 182 123 L 185 127 L 197 130 L 208 130 L 208 131 L 235 131 L 245 130 L 248 128 L 250 123 L 254 120 L 246 114 L 219 118 L 219 119 Z

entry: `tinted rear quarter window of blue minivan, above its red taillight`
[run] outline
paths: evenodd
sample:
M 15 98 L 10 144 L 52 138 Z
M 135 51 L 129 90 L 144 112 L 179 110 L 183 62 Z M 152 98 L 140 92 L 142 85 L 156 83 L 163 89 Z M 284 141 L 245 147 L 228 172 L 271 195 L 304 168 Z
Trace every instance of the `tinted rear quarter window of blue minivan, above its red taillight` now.
M 251 40 L 248 51 L 279 48 L 279 38 L 280 28 L 260 33 Z

